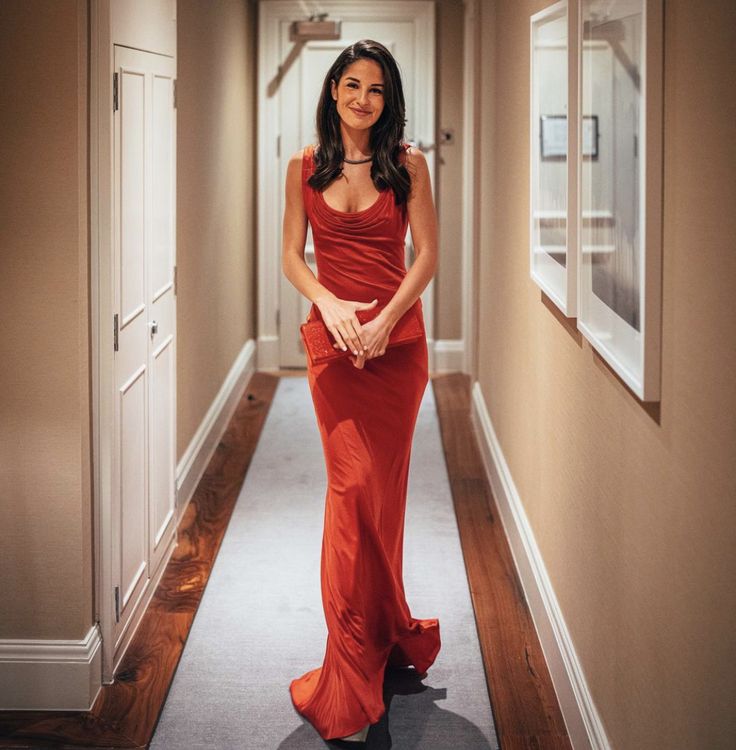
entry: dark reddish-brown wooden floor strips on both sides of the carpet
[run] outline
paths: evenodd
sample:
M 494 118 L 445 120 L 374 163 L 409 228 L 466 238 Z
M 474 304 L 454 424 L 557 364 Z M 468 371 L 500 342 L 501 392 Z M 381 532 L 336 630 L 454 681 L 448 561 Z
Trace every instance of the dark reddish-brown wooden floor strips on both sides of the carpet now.
M 179 544 L 115 683 L 87 712 L 0 711 L 0 748 L 148 747 L 279 376 L 304 374 L 259 372 L 251 379 L 181 519 Z M 473 436 L 469 378 L 431 382 L 501 748 L 570 748 Z

